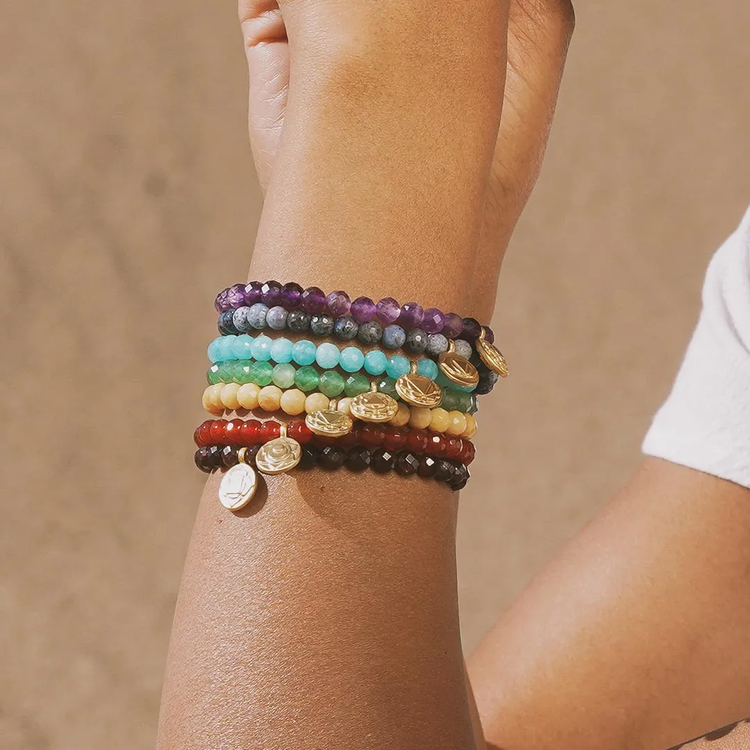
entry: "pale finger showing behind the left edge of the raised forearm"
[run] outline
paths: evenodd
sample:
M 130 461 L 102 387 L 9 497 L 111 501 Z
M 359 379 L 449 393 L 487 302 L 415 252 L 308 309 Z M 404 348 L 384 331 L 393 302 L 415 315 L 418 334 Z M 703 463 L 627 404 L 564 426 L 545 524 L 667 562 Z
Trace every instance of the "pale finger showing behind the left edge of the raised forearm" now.
M 265 191 L 287 107 L 287 29 L 275 0 L 239 0 L 239 20 L 248 60 L 248 131 L 258 179 Z

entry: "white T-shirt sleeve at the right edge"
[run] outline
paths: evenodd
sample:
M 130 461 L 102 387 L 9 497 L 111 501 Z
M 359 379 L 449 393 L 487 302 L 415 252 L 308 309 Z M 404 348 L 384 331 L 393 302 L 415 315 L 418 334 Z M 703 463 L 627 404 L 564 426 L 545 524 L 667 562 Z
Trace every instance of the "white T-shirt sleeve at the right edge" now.
M 750 487 L 750 210 L 709 265 L 700 319 L 643 452 Z

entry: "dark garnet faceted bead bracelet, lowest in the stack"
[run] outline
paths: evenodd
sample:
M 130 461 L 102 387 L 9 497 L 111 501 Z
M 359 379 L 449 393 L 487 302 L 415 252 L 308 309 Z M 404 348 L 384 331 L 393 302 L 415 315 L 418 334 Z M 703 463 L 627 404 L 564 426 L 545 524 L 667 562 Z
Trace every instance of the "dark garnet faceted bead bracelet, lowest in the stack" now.
M 206 473 L 217 469 L 232 468 L 241 463 L 255 466 L 255 457 L 260 446 L 238 448 L 236 446 L 202 446 L 195 452 L 195 463 Z M 299 469 L 312 469 L 319 466 L 322 469 L 350 469 L 350 471 L 364 471 L 372 469 L 378 474 L 395 471 L 401 476 L 418 475 L 422 478 L 432 478 L 447 484 L 454 492 L 462 490 L 469 481 L 469 469 L 459 461 L 437 458 L 427 454 L 411 451 L 393 452 L 386 448 L 370 448 L 368 446 L 302 446 L 302 458 Z

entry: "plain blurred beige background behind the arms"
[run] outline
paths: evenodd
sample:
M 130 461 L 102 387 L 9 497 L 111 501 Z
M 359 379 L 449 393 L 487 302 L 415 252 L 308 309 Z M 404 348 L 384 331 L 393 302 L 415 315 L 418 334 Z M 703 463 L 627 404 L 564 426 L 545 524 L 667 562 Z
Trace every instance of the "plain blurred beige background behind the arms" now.
M 493 325 L 466 646 L 628 476 L 750 202 L 750 4 L 580 0 Z M 260 210 L 231 1 L 0 10 L 0 750 L 154 740 L 211 301 Z

